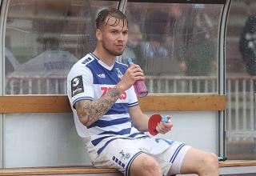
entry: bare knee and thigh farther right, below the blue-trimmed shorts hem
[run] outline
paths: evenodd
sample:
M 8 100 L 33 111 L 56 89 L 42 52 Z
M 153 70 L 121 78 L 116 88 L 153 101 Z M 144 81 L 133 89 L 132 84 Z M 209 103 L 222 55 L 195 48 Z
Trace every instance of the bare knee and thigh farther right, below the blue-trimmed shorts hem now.
M 218 176 L 218 158 L 216 154 L 191 147 L 182 162 L 181 174 Z

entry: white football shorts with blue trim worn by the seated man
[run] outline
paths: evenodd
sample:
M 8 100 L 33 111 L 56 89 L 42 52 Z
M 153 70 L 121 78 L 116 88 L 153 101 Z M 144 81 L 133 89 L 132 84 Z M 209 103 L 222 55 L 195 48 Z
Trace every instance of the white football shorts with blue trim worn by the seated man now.
M 189 148 L 182 142 L 165 138 L 117 138 L 92 163 L 96 167 L 115 168 L 124 175 L 129 175 L 134 158 L 145 153 L 158 162 L 162 174 L 180 174 L 183 158 Z

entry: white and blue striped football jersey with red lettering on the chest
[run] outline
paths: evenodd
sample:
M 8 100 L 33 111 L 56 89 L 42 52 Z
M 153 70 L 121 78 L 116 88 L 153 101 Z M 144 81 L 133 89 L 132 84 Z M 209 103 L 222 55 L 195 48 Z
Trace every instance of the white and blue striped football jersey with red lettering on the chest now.
M 107 66 L 97 56 L 90 53 L 75 63 L 67 76 L 67 94 L 78 135 L 82 138 L 89 138 L 89 142 L 95 146 L 98 154 L 116 138 L 146 136 L 134 127 L 128 114 L 129 107 L 138 106 L 134 86 L 121 94 L 114 106 L 88 127 L 79 121 L 74 109 L 74 104 L 80 100 L 93 101 L 101 98 L 122 79 L 126 70 L 127 65 L 123 63 L 114 62 L 113 66 Z

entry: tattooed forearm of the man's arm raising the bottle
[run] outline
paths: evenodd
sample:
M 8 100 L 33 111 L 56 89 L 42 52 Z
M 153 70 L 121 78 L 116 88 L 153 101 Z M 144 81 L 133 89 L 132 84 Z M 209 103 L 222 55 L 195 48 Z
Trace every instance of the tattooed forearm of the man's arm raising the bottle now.
M 108 110 L 118 100 L 121 92 L 117 88 L 111 89 L 107 94 L 103 95 L 94 101 L 79 101 L 75 104 L 78 113 L 78 118 L 85 126 L 90 126 L 96 122 L 102 115 L 106 114 Z

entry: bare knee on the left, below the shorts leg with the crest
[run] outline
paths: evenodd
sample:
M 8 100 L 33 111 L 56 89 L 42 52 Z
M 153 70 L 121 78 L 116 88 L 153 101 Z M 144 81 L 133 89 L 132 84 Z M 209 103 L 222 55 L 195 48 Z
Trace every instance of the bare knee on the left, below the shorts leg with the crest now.
M 131 176 L 162 176 L 161 168 L 154 158 L 139 154 L 130 166 Z

